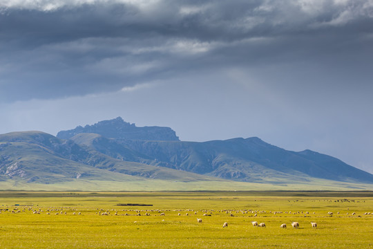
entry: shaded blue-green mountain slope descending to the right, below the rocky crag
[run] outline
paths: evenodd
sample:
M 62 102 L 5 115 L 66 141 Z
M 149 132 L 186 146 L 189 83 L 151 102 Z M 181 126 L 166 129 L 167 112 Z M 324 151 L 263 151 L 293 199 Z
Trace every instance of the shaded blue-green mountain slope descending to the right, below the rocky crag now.
M 86 145 L 115 158 L 236 181 L 286 183 L 314 177 L 373 183 L 372 174 L 331 156 L 287 151 L 259 138 L 180 142 L 97 137 Z

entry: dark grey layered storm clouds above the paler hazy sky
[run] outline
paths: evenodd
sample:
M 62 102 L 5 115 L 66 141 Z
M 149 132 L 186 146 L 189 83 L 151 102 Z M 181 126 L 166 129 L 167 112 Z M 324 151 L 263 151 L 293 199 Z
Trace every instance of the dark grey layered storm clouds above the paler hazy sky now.
M 72 0 L 0 6 L 3 102 L 117 91 L 236 66 L 320 64 L 352 80 L 364 75 L 360 84 L 372 78 L 371 1 Z

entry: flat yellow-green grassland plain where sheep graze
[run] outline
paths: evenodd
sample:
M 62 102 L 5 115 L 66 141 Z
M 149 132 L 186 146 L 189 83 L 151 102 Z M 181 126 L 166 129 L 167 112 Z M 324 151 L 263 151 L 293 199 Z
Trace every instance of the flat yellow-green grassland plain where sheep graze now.
M 0 248 L 373 248 L 373 192 L 0 192 L 0 209 Z

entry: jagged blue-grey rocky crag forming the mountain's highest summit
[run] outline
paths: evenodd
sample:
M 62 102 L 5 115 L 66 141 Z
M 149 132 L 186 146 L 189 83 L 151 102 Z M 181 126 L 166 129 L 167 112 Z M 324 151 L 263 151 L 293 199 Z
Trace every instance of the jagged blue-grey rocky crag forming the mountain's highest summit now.
M 136 127 L 120 117 L 104 120 L 85 127 L 78 126 L 68 131 L 59 131 L 57 138 L 69 139 L 79 133 L 97 133 L 106 138 L 125 140 L 178 141 L 175 131 L 169 127 Z

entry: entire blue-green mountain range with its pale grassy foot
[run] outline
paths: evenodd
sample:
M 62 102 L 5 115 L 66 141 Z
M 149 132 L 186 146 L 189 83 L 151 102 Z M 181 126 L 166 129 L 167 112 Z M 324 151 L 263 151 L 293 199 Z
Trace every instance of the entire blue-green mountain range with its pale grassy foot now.
M 0 187 L 26 190 L 372 190 L 373 175 L 260 138 L 180 141 L 169 127 L 120 117 L 0 135 Z

